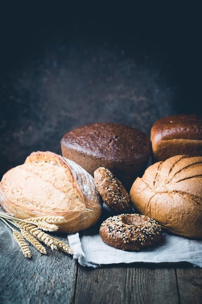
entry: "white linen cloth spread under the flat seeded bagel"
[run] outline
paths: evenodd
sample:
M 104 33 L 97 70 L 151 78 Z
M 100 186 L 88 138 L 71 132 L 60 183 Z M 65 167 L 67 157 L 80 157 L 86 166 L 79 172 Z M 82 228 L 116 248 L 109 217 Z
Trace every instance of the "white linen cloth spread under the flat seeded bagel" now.
M 139 252 L 126 252 L 106 245 L 99 236 L 100 223 L 111 216 L 104 205 L 99 222 L 82 232 L 69 234 L 69 245 L 74 251 L 73 258 L 81 266 L 99 267 L 119 263 L 176 263 L 188 262 L 202 268 L 202 240 L 192 240 L 168 233 L 162 234 L 157 246 Z

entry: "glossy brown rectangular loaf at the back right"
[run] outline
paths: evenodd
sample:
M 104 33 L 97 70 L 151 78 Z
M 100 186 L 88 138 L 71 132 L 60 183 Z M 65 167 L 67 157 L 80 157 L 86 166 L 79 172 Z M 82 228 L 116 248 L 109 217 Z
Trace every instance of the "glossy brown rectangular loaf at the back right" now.
M 174 155 L 202 156 L 202 114 L 173 115 L 151 129 L 153 162 Z

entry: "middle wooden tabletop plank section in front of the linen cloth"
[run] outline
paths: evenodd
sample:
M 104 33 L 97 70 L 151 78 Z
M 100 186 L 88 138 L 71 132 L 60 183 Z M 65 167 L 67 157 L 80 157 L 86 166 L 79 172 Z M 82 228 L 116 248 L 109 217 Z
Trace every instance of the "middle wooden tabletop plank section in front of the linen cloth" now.
M 78 268 L 75 304 L 153 303 L 177 304 L 175 270 L 140 266 Z

